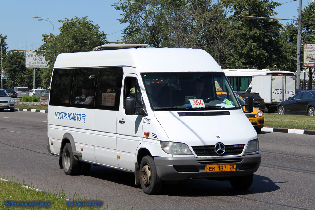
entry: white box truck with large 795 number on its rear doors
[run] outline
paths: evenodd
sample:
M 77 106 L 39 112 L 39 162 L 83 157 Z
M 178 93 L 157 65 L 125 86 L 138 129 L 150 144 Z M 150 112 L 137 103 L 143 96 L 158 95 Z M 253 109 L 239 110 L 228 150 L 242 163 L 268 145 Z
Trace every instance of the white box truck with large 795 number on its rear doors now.
M 252 76 L 251 92 L 257 92 L 265 100 L 266 112 L 277 111 L 278 104 L 295 95 L 295 76 L 258 75 Z

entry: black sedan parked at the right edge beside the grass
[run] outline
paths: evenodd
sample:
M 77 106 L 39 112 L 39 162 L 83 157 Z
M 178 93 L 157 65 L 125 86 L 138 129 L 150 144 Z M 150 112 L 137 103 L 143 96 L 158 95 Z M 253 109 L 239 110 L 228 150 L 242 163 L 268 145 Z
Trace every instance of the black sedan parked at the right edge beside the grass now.
M 278 114 L 303 114 L 315 116 L 315 90 L 302 90 L 292 98 L 280 102 Z

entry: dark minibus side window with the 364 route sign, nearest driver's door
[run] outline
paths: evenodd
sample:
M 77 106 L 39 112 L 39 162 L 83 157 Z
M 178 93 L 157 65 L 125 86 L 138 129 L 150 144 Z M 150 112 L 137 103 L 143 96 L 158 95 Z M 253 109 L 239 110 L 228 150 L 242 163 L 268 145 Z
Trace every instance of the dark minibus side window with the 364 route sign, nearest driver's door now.
M 100 68 L 95 109 L 118 111 L 122 82 L 123 67 Z

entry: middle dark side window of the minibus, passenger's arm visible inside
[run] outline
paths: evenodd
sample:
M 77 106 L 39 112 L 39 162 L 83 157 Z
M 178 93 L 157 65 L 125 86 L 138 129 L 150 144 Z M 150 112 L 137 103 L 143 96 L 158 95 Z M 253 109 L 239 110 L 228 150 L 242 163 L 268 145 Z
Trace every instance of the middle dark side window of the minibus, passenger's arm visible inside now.
M 74 70 L 71 91 L 71 107 L 94 108 L 94 96 L 98 68 Z

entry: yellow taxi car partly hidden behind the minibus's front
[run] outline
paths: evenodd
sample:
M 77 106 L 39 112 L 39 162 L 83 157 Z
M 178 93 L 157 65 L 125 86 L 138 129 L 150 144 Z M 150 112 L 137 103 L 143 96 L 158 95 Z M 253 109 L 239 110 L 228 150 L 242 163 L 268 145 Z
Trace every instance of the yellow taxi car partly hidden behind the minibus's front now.
M 226 92 L 217 91 L 216 94 L 217 94 L 217 97 L 219 97 L 221 100 L 222 99 L 226 99 Z M 235 94 L 235 95 L 236 95 L 236 98 L 238 99 L 238 102 L 241 105 L 245 104 L 245 99 L 243 99 L 238 94 Z M 261 132 L 261 128 L 264 127 L 264 125 L 265 125 L 265 118 L 264 118 L 264 114 L 262 113 L 262 111 L 260 111 L 259 109 L 255 109 L 254 108 L 253 112 L 245 113 L 245 115 L 247 116 L 249 121 L 254 126 L 256 132 L 260 133 Z

